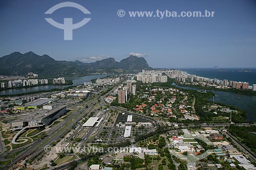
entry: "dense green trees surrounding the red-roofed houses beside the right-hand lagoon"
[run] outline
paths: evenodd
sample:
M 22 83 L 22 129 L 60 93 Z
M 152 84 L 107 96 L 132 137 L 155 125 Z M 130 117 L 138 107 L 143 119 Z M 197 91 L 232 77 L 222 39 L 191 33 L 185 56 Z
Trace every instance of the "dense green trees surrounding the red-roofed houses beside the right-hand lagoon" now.
M 113 106 L 120 106 L 124 107 L 128 110 L 134 111 L 134 108 L 136 105 L 141 105 L 142 103 L 151 106 L 154 104 L 157 104 L 157 101 L 159 101 L 162 98 L 162 94 L 160 91 L 157 91 L 157 95 L 155 95 L 155 100 L 151 103 L 148 103 L 148 100 L 146 97 L 144 97 L 144 94 L 151 95 L 151 89 L 154 88 L 176 88 L 179 89 L 185 93 L 188 94 L 189 99 L 194 99 L 195 98 L 195 111 L 196 114 L 199 115 L 200 120 L 195 121 L 195 120 L 182 120 L 184 123 L 227 123 L 226 117 L 230 116 L 229 112 L 221 112 L 220 110 L 223 108 L 229 108 L 231 110 L 235 110 L 231 113 L 232 115 L 232 122 L 234 123 L 243 123 L 246 122 L 246 113 L 245 111 L 242 111 L 241 109 L 234 107 L 234 106 L 229 106 L 229 105 L 224 105 L 222 103 L 212 103 L 209 99 L 211 99 L 213 96 L 215 96 L 215 93 L 212 91 L 208 92 L 202 92 L 202 91 L 197 91 L 197 90 L 191 90 L 191 89 L 183 89 L 183 88 L 178 88 L 173 84 L 173 80 L 168 78 L 168 82 L 166 83 L 151 83 L 151 84 L 143 84 L 142 82 L 136 82 L 137 86 L 137 95 L 131 95 L 130 99 L 127 103 L 125 104 L 119 104 L 118 99 L 116 99 L 111 105 Z M 167 99 L 171 96 L 167 95 Z M 174 106 L 179 103 L 180 100 L 182 100 L 183 97 L 182 95 L 177 96 L 176 102 L 173 104 Z M 163 100 L 161 104 L 166 104 L 166 100 Z M 190 103 L 191 104 L 191 103 Z M 219 105 L 221 107 L 218 107 L 218 109 L 209 109 L 211 105 Z M 237 111 L 236 111 L 237 110 Z M 181 118 L 182 115 L 177 112 L 176 109 L 173 109 L 174 114 L 177 116 L 177 118 Z M 214 113 L 215 112 L 215 113 Z M 217 112 L 217 113 L 216 113 Z M 151 113 L 151 108 L 150 107 L 145 107 L 143 109 L 144 114 Z M 150 115 L 151 116 L 151 115 Z M 159 116 L 162 116 L 163 118 L 167 118 L 166 114 L 159 114 Z M 217 118 L 219 117 L 220 118 Z M 180 120 L 170 117 L 169 121 L 170 122 L 179 122 Z

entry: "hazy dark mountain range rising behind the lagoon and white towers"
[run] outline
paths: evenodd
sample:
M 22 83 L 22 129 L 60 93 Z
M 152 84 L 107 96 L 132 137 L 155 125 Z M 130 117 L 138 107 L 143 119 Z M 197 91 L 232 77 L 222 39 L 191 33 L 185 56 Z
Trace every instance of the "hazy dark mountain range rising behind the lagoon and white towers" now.
M 95 72 L 136 72 L 152 69 L 142 57 L 129 56 L 120 62 L 107 58 L 92 63 L 57 61 L 48 55 L 39 56 L 33 52 L 14 52 L 0 58 L 0 75 L 26 76 L 33 72 L 39 76 L 83 76 Z

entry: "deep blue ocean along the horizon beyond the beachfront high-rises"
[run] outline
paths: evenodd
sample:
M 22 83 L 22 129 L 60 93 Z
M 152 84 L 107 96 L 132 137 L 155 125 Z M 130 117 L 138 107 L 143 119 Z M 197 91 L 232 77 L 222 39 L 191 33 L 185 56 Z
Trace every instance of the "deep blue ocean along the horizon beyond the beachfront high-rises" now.
M 248 82 L 250 86 L 256 84 L 256 68 L 177 68 L 186 71 L 190 75 L 197 75 L 200 77 L 232 80 L 238 82 Z M 239 71 L 242 69 L 250 70 L 249 72 Z M 223 71 L 225 70 L 225 71 Z

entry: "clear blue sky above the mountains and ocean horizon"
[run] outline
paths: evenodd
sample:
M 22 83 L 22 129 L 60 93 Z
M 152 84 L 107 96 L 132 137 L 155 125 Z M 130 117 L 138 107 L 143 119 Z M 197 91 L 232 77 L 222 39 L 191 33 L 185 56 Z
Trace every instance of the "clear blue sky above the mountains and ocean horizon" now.
M 0 1 L 0 56 L 18 51 L 47 54 L 56 60 L 92 62 L 114 57 L 116 61 L 141 53 L 152 67 L 256 67 L 256 1 L 70 1 L 75 8 L 61 8 L 66 1 Z M 126 11 L 119 17 L 117 11 Z M 215 11 L 209 18 L 128 16 L 128 11 Z M 91 20 L 73 30 L 73 40 L 63 40 L 63 30 L 45 17 L 63 23 Z

